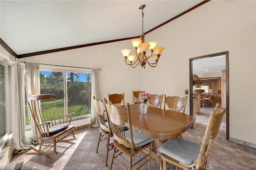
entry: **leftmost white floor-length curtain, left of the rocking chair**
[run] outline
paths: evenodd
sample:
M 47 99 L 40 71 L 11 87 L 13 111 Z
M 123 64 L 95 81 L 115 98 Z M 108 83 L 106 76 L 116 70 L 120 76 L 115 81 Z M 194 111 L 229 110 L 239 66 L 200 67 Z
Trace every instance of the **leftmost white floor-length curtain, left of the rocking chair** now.
M 25 136 L 24 123 L 24 69 L 20 61 L 12 65 L 12 133 L 15 146 L 14 153 L 22 153 L 30 148 L 31 143 Z

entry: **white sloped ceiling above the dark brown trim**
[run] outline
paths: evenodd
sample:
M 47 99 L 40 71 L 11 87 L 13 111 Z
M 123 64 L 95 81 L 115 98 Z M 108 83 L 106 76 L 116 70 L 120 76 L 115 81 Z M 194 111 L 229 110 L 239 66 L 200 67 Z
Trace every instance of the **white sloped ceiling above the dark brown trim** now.
M 140 36 L 203 0 L 1 0 L 0 38 L 17 54 Z

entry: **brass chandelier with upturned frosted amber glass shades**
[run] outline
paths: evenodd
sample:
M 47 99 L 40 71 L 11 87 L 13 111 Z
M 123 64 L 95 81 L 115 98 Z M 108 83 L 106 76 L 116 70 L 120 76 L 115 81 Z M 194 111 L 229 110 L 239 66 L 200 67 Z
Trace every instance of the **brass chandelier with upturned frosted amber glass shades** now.
M 131 40 L 132 46 L 135 49 L 135 55 L 129 55 L 131 50 L 130 49 L 121 49 L 122 55 L 124 56 L 125 63 L 130 65 L 132 68 L 136 67 L 138 64 L 141 65 L 141 67 L 145 68 L 146 63 L 150 65 L 151 67 L 156 67 L 157 62 L 159 60 L 159 57 L 162 55 L 162 51 L 164 50 L 164 47 L 156 47 L 157 42 L 148 42 L 145 43 L 145 34 L 143 34 L 143 9 L 146 7 L 146 5 L 142 5 L 139 7 L 140 10 L 142 10 L 142 34 L 140 36 L 140 39 L 133 39 Z M 146 51 L 150 49 L 150 56 L 146 55 Z M 152 57 L 154 60 L 152 63 L 148 60 L 150 57 Z M 136 59 L 135 59 L 136 58 Z M 128 60 L 128 61 L 127 61 Z

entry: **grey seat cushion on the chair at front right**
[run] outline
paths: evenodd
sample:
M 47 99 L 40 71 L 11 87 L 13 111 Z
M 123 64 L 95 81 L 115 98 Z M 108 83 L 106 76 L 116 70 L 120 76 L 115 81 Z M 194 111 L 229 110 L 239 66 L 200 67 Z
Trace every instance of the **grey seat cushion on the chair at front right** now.
M 182 162 L 186 165 L 191 165 L 194 160 L 198 158 L 200 145 L 194 142 L 184 140 L 182 138 L 175 138 L 167 140 L 159 148 L 160 152 Z

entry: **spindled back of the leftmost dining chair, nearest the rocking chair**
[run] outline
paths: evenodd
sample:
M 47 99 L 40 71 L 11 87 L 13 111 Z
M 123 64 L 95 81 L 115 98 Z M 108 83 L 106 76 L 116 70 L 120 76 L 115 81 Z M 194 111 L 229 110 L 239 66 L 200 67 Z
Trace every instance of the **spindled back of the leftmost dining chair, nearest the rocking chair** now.
M 111 133 L 110 121 L 104 101 L 97 100 L 95 99 L 95 97 L 93 97 L 93 103 L 96 109 L 96 113 L 98 115 L 98 122 L 100 123 L 100 127 L 103 130 Z

